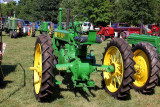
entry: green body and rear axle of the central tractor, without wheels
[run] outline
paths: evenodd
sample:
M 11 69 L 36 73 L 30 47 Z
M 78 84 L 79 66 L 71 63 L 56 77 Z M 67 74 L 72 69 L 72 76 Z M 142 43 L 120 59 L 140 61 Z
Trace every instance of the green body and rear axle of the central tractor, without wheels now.
M 96 31 L 90 30 L 88 39 L 84 43 L 75 41 L 74 38 L 79 36 L 80 26 L 82 22 L 75 21 L 74 27 L 68 27 L 62 29 L 61 27 L 61 13 L 62 9 L 59 9 L 59 26 L 54 30 L 53 35 L 53 48 L 54 55 L 58 57 L 58 64 L 55 65 L 56 71 L 68 72 L 72 74 L 71 80 L 74 87 L 82 87 L 84 91 L 88 91 L 88 87 L 94 87 L 95 82 L 91 81 L 90 75 L 92 72 L 114 72 L 113 66 L 97 65 L 95 64 L 95 55 L 90 51 L 88 47 L 96 43 Z M 76 26 L 76 27 L 75 27 Z M 81 37 L 81 36 L 79 36 Z

